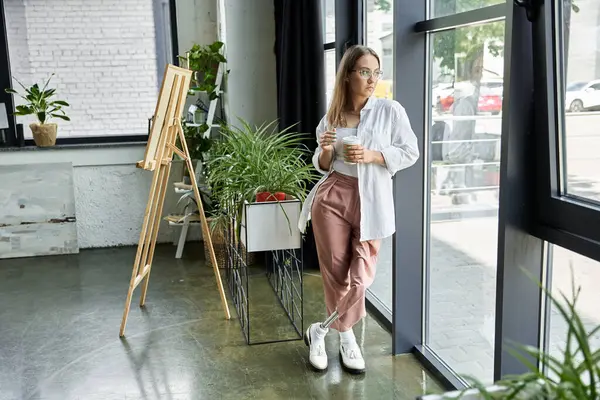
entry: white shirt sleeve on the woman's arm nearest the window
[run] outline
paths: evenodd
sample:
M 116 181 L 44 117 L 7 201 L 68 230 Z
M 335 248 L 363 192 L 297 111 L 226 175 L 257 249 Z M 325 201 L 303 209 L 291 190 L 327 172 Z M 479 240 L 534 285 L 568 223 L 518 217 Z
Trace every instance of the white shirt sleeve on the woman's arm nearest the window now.
M 388 172 L 394 176 L 417 162 L 419 147 L 404 107 L 396 103 L 392 113 L 392 144 L 381 150 L 381 154 Z

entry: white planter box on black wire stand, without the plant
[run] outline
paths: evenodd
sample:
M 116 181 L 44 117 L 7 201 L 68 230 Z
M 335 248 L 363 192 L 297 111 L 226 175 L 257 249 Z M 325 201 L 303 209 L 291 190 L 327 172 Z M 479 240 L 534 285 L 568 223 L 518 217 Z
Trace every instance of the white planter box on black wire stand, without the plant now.
M 298 230 L 301 209 L 302 203 L 296 199 L 246 203 L 240 232 L 246 251 L 299 249 L 302 244 Z

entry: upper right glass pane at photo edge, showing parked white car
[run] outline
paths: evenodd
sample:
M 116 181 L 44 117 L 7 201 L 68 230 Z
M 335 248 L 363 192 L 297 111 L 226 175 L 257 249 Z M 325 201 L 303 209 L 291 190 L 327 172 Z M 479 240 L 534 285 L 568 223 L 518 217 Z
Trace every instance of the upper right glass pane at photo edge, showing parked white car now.
M 566 74 L 563 192 L 600 201 L 600 2 L 567 1 L 563 15 Z M 562 4 L 562 2 L 560 2 Z

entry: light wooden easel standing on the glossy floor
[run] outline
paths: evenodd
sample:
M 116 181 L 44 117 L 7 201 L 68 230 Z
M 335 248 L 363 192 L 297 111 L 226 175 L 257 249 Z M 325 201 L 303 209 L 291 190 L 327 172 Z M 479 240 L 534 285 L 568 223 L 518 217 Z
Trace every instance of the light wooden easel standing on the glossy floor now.
M 185 161 L 189 171 L 190 180 L 192 181 L 194 190 L 194 197 L 198 203 L 198 211 L 200 212 L 202 233 L 204 236 L 203 239 L 207 241 L 208 248 L 210 249 L 210 260 L 217 280 L 219 294 L 221 295 L 221 303 L 223 305 L 223 310 L 225 311 L 225 318 L 231 318 L 229 307 L 227 305 L 227 298 L 225 297 L 225 291 L 223 289 L 221 274 L 219 273 L 217 258 L 210 236 L 210 229 L 204 214 L 192 160 L 185 141 L 183 127 L 181 126 L 181 115 L 190 88 L 191 78 L 191 70 L 176 67 L 171 64 L 167 65 L 154 112 L 154 119 L 150 128 L 146 153 L 144 159 L 139 161 L 136 165 L 138 168 L 154 171 L 154 174 L 152 177 L 148 204 L 146 205 L 146 212 L 144 214 L 142 232 L 140 233 L 140 241 L 138 243 L 137 254 L 135 256 L 131 274 L 131 281 L 129 283 L 129 291 L 127 292 L 127 301 L 125 303 L 123 321 L 121 322 L 121 330 L 119 333 L 119 336 L 121 337 L 125 334 L 125 325 L 127 324 L 127 317 L 131 306 L 131 297 L 135 288 L 142 282 L 140 307 L 144 306 L 146 302 L 146 293 L 148 291 L 148 282 L 150 280 L 150 271 L 152 269 L 152 259 L 154 257 L 156 238 L 160 228 L 165 194 L 169 182 L 169 175 L 171 173 L 173 153 L 179 155 Z M 182 149 L 177 147 L 178 138 Z

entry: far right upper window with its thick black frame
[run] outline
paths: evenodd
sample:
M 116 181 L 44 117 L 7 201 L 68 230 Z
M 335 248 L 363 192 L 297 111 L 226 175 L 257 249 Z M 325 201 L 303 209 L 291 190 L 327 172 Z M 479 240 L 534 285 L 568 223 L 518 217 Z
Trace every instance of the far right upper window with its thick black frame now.
M 535 23 L 551 35 L 537 35 L 535 62 L 549 73 L 535 75 L 536 126 L 540 152 L 538 201 L 541 235 L 561 236 L 577 251 L 600 251 L 600 160 L 594 149 L 600 121 L 600 4 L 593 0 L 550 2 Z M 598 99 L 596 99 L 598 98 Z M 549 233 L 552 231 L 552 233 Z

